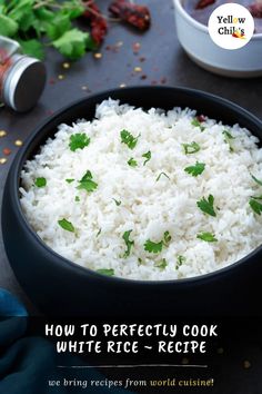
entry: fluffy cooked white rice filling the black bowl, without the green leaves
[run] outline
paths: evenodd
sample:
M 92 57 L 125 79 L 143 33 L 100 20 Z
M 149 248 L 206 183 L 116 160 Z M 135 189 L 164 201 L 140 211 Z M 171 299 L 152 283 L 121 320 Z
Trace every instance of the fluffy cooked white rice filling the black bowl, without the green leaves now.
M 21 205 L 28 221 L 63 257 L 124 278 L 192 277 L 248 255 L 262 239 L 262 217 L 249 204 L 252 196 L 262 195 L 262 186 L 251 177 L 262 178 L 259 140 L 238 125 L 211 119 L 201 124 L 205 127 L 201 131 L 191 124 L 194 117 L 191 109 L 144 111 L 109 99 L 98 106 L 92 121 L 61 125 L 21 173 Z M 122 129 L 140 135 L 134 149 L 121 142 Z M 225 129 L 233 138 L 225 138 Z M 70 150 L 70 136 L 83 132 L 90 137 L 89 146 Z M 192 141 L 201 149 L 185 155 L 182 144 Z M 143 165 L 148 151 L 151 159 Z M 128 165 L 130 158 L 137 167 Z M 205 168 L 194 177 L 184 168 L 196 161 Z M 87 170 L 98 184 L 92 193 L 77 189 Z M 47 179 L 44 187 L 34 185 L 39 177 Z M 74 181 L 69 184 L 68 178 Z M 210 195 L 215 217 L 196 205 Z M 61 219 L 70 221 L 74 233 L 61 228 Z M 130 256 L 123 257 L 122 236 L 128 230 L 134 244 Z M 147 240 L 160 243 L 165 232 L 171 240 L 162 244 L 162 252 L 144 249 Z M 203 232 L 216 242 L 198 238 Z

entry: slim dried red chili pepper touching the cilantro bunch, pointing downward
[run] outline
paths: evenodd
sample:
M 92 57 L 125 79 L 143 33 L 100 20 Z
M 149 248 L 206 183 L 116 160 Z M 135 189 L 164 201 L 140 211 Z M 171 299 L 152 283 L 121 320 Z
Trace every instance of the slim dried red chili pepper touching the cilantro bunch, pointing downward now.
M 85 1 L 84 6 L 83 17 L 90 20 L 92 39 L 100 45 L 108 32 L 108 22 L 93 0 Z

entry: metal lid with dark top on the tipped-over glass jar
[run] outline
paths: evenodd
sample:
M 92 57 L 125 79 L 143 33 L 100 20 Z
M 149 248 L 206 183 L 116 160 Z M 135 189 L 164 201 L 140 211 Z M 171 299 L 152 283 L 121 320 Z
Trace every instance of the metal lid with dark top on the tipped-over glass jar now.
M 41 96 L 47 75 L 44 65 L 28 56 L 14 55 L 3 82 L 2 99 L 16 111 L 31 109 Z

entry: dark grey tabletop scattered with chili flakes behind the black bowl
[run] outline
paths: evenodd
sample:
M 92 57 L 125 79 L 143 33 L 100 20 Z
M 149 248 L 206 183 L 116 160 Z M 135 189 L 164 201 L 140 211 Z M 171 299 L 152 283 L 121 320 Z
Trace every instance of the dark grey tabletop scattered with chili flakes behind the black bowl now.
M 262 79 L 229 79 L 202 70 L 179 45 L 172 0 L 143 2 L 149 4 L 152 12 L 152 27 L 148 32 L 140 35 L 125 26 L 113 23 L 99 50 L 102 57 L 88 53 L 81 61 L 71 63 L 69 69 L 63 67 L 64 60 L 50 49 L 46 59 L 48 83 L 38 106 L 24 115 L 8 108 L 0 109 L 0 129 L 7 131 L 7 136 L 0 138 L 0 157 L 7 158 L 7 162 L 0 165 L 1 195 L 7 173 L 19 149 L 14 145 L 16 140 L 24 141 L 36 126 L 53 111 L 92 92 L 123 83 L 187 86 L 222 96 L 262 118 Z M 100 3 L 105 10 L 109 1 Z M 11 149 L 9 156 L 4 156 L 4 148 Z M 0 286 L 22 299 L 30 313 L 36 313 L 14 278 L 2 239 Z

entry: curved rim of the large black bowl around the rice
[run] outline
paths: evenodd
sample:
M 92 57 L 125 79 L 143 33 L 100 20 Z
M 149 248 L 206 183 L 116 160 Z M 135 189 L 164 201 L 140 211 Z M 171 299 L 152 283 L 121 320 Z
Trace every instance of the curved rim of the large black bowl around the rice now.
M 17 154 L 17 157 L 14 159 L 14 161 L 11 165 L 10 168 L 10 173 L 12 171 L 14 174 L 12 180 L 13 184 L 11 185 L 14 194 L 13 194 L 13 201 L 16 204 L 14 209 L 17 209 L 17 211 L 19 213 L 19 217 L 20 217 L 20 224 L 22 226 L 22 229 L 24 232 L 29 232 L 30 235 L 32 236 L 33 240 L 37 242 L 37 244 L 39 244 L 39 247 L 41 247 L 42 249 L 44 249 L 46 253 L 49 254 L 50 258 L 54 258 L 59 259 L 59 264 L 63 264 L 64 266 L 67 266 L 67 268 L 71 268 L 74 272 L 80 272 L 82 274 L 89 274 L 89 276 L 93 276 L 95 278 L 99 278 L 100 280 L 105 280 L 105 282 L 111 282 L 112 284 L 118 284 L 118 285 L 138 285 L 138 286 L 158 286 L 158 285 L 175 285 L 175 286 L 185 286 L 185 285 L 190 285 L 192 283 L 194 284 L 203 284 L 204 282 L 209 280 L 212 277 L 222 277 L 224 275 L 228 274 L 228 272 L 236 268 L 240 265 L 243 265 L 244 263 L 249 263 L 250 258 L 252 258 L 254 255 L 256 255 L 259 252 L 262 252 L 262 245 L 260 245 L 259 247 L 256 247 L 254 250 L 252 250 L 250 254 L 248 254 L 246 256 L 242 257 L 241 259 L 236 260 L 235 263 L 232 263 L 225 267 L 219 268 L 216 270 L 213 270 L 211 273 L 208 274 L 203 274 L 203 275 L 198 275 L 198 276 L 192 276 L 189 278 L 181 278 L 181 279 L 167 279 L 167 280 L 145 280 L 145 279 L 132 279 L 132 278 L 122 278 L 122 277 L 118 277 L 118 276 L 107 276 L 107 275 L 102 275 L 97 273 L 95 270 L 92 270 L 91 268 L 88 267 L 83 267 L 80 266 L 79 264 L 67 259 L 66 257 L 59 255 L 57 252 L 54 252 L 51 247 L 49 247 L 40 237 L 39 235 L 33 230 L 33 228 L 31 227 L 31 225 L 29 224 L 24 213 L 22 211 L 22 207 L 20 204 L 20 198 L 19 198 L 19 186 L 20 186 L 20 174 L 21 174 L 21 169 L 22 166 L 24 165 L 24 159 L 27 159 L 27 154 L 28 150 L 30 148 L 31 142 L 34 140 L 34 138 L 37 137 L 37 135 L 39 132 L 41 132 L 43 127 L 47 127 L 50 122 L 54 121 L 54 119 L 60 118 L 63 114 L 66 114 L 69 109 L 72 108 L 77 108 L 80 104 L 82 104 L 83 101 L 88 101 L 89 99 L 94 99 L 98 98 L 97 102 L 99 104 L 101 100 L 99 100 L 99 97 L 102 96 L 108 96 L 110 97 L 110 95 L 117 93 L 119 91 L 121 92 L 129 92 L 129 91 L 134 91 L 134 90 L 173 90 L 177 93 L 178 92 L 184 92 L 188 93 L 192 97 L 202 97 L 205 98 L 210 101 L 212 101 L 213 104 L 218 104 L 218 106 L 222 106 L 226 109 L 232 110 L 234 114 L 240 115 L 241 117 L 245 118 L 245 120 L 250 124 L 252 124 L 253 126 L 255 126 L 258 129 L 262 130 L 262 121 L 255 117 L 254 115 L 252 115 L 251 112 L 249 112 L 248 110 L 245 110 L 244 108 L 238 106 L 236 104 L 221 98 L 219 96 L 202 91 L 202 90 L 196 90 L 196 89 L 191 89 L 191 88 L 185 88 L 185 87 L 168 87 L 168 86 L 133 86 L 133 87 L 128 87 L 128 88 L 117 88 L 117 89 L 109 89 L 109 90 L 104 90 L 104 91 L 100 91 L 100 92 L 95 92 L 93 95 L 90 95 L 87 98 L 82 98 L 79 100 L 74 100 L 71 105 L 67 105 L 64 106 L 62 109 L 56 111 L 49 119 L 48 121 L 41 121 L 40 125 L 32 131 L 32 134 L 26 139 L 23 147 L 21 148 L 21 150 Z M 122 100 L 121 100 L 122 101 Z M 122 101 L 123 102 L 123 101 Z M 125 101 L 125 104 L 128 104 L 128 99 Z M 77 120 L 77 119 L 75 119 Z M 60 121 L 60 124 L 62 122 L 62 120 Z M 251 131 L 252 134 L 252 131 Z M 56 264 L 57 262 L 54 262 Z

